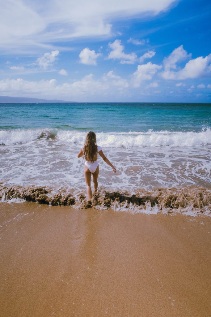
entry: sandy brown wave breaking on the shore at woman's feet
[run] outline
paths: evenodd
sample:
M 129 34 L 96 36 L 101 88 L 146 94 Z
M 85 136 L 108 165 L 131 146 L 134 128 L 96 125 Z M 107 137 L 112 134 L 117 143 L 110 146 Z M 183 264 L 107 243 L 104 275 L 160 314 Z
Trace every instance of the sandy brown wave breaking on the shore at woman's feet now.
M 136 194 L 100 190 L 91 201 L 78 191 L 52 193 L 43 187 L 0 186 L 1 202 L 30 201 L 39 204 L 74 206 L 80 209 L 108 209 L 131 213 L 163 214 L 180 213 L 189 216 L 211 217 L 211 190 L 201 187 L 158 188 L 140 190 Z

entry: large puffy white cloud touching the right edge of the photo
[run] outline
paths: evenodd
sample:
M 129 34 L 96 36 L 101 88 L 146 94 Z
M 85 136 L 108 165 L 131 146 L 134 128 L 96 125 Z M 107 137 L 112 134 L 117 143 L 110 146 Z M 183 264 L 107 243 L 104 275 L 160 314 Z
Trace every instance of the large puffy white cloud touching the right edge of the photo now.
M 173 52 L 164 59 L 164 72 L 161 73 L 161 76 L 164 79 L 184 80 L 188 78 L 198 78 L 211 72 L 211 54 L 204 58 L 200 56 L 189 60 L 185 64 L 185 67 L 179 69 L 178 71 L 171 70 L 177 70 L 177 63 L 189 58 L 190 56 L 191 54 L 187 54 L 187 52 L 183 49 L 183 45 L 174 49 Z

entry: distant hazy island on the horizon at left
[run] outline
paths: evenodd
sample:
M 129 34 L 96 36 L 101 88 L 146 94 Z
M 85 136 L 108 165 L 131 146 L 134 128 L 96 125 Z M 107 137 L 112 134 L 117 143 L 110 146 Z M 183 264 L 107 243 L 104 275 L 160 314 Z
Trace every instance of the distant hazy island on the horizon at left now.
M 0 103 L 55 103 L 55 102 L 77 102 L 77 101 L 66 101 L 66 100 L 48 100 L 48 99 L 38 99 L 38 98 L 27 98 L 27 97 L 9 97 L 0 96 Z

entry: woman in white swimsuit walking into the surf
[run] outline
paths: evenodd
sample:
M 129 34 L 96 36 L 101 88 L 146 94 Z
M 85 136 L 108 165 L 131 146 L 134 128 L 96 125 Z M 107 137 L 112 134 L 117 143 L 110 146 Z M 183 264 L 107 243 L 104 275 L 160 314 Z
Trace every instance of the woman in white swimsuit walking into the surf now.
M 78 153 L 78 158 L 82 157 L 85 160 L 84 163 L 84 177 L 86 181 L 86 191 L 89 200 L 91 200 L 92 197 L 92 191 L 91 191 L 91 174 L 93 176 L 93 183 L 95 191 L 97 190 L 97 178 L 99 174 L 99 165 L 97 161 L 97 153 L 100 154 L 103 161 L 106 162 L 111 168 L 113 169 L 114 173 L 116 172 L 115 167 L 110 163 L 110 161 L 107 159 L 107 157 L 102 152 L 102 147 L 97 145 L 96 142 L 96 134 L 92 131 L 87 133 L 86 140 L 84 143 L 84 146 Z

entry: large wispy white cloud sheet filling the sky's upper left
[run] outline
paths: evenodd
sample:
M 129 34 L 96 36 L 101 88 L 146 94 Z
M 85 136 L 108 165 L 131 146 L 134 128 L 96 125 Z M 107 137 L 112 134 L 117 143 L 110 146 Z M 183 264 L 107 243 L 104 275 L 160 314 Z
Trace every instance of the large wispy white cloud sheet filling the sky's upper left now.
M 53 42 L 84 36 L 108 36 L 117 18 L 166 10 L 174 0 L 7 0 L 0 10 L 0 47 L 15 52 L 44 48 Z M 48 46 L 49 47 L 49 46 Z

